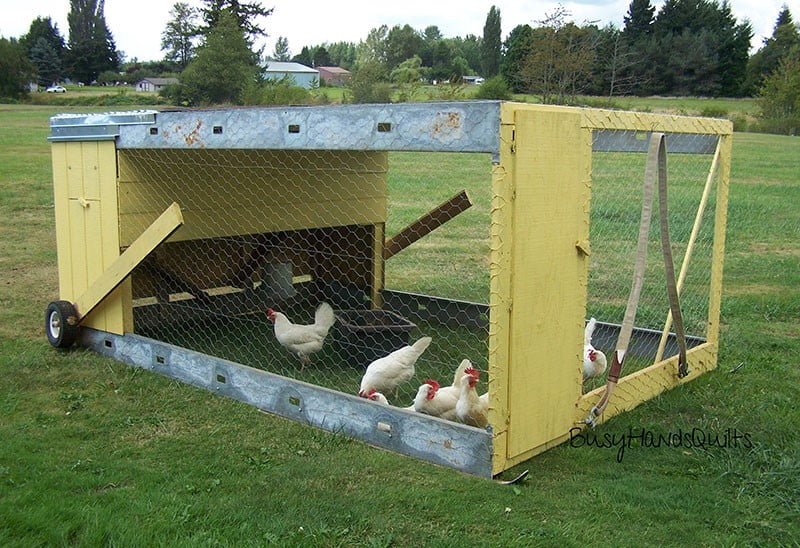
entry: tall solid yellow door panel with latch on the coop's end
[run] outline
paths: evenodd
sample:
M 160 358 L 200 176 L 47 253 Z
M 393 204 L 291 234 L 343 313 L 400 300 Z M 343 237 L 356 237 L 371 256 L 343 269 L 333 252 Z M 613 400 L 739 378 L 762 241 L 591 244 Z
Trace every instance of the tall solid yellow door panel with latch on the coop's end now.
M 509 458 L 569 430 L 580 396 L 591 132 L 574 110 L 520 110 L 514 146 Z

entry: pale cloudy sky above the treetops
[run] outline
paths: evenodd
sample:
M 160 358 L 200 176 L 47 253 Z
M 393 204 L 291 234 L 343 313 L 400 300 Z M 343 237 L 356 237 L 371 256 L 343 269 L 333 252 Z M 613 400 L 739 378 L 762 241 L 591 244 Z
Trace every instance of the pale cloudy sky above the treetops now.
M 202 4 L 200 0 L 183 1 L 193 6 Z M 163 57 L 161 33 L 174 3 L 174 0 L 105 0 L 106 24 L 125 60 L 155 61 Z M 656 8 L 663 3 L 652 0 Z M 69 0 L 0 0 L 0 36 L 19 38 L 28 32 L 36 17 L 49 16 L 66 39 L 69 5 Z M 260 21 L 269 37 L 257 45 L 265 46 L 265 53 L 269 54 L 277 37 L 285 36 L 291 54 L 295 55 L 303 46 L 339 41 L 358 43 L 370 29 L 382 24 L 392 27 L 407 23 L 418 30 L 436 25 L 445 37 L 482 36 L 486 14 L 492 5 L 500 9 L 503 39 L 517 25 L 536 26 L 559 5 L 569 12 L 568 19 L 579 25 L 613 23 L 622 28 L 630 0 L 261 0 L 261 5 L 273 7 L 274 11 Z M 754 49 L 761 47 L 764 38 L 772 36 L 784 5 L 789 7 L 795 22 L 800 22 L 800 0 L 729 0 L 729 5 L 737 21 L 750 21 Z

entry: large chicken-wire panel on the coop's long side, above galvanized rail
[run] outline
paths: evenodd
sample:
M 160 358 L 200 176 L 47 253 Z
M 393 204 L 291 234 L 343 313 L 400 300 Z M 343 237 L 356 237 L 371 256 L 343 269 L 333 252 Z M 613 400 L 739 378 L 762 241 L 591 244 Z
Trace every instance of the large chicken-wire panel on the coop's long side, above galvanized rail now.
M 489 155 L 133 149 L 119 162 L 124 242 L 172 201 L 186 218 L 134 272 L 137 334 L 351 394 L 371 361 L 431 336 L 415 376 L 387 395 L 403 406 L 425 379 L 449 385 L 465 358 L 485 370 L 485 326 L 428 314 L 421 299 L 485 316 L 469 301 L 488 296 Z M 465 190 L 476 203 L 427 234 L 425 214 Z M 384 238 L 421 217 L 421 239 L 384 260 Z M 384 277 L 399 290 L 386 306 Z M 329 317 L 316 316 L 323 303 Z M 281 341 L 315 321 L 330 328 L 321 347 Z

